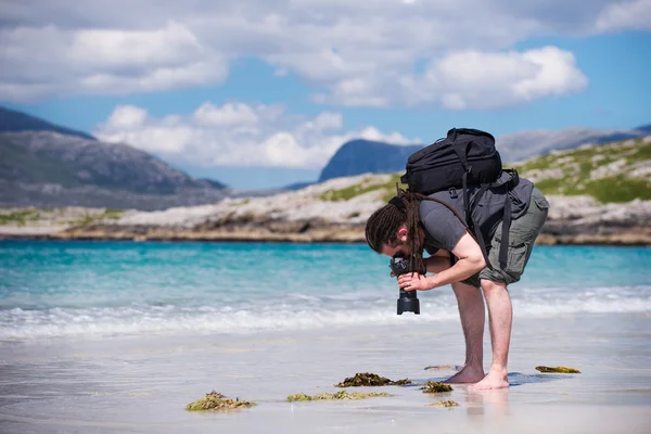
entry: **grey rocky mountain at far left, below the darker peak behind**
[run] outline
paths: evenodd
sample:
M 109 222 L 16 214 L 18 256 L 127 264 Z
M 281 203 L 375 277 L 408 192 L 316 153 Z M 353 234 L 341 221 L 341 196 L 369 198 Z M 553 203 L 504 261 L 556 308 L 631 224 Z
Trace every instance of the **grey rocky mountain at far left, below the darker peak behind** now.
M 126 144 L 52 131 L 0 133 L 0 206 L 164 209 L 214 203 L 225 187 Z

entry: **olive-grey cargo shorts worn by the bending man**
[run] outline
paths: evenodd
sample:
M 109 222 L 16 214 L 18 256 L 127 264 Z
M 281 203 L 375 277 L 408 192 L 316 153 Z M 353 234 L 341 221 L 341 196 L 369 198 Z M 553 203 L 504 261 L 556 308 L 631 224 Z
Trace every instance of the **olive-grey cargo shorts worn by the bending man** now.
M 547 199 L 545 199 L 545 195 L 542 195 L 540 190 L 534 188 L 526 214 L 519 219 L 511 221 L 506 269 L 502 269 L 499 265 L 499 250 L 501 245 L 500 222 L 495 230 L 493 239 L 490 239 L 490 244 L 486 245 L 488 250 L 488 260 L 490 261 L 493 269 L 486 267 L 477 275 L 474 275 L 462 282 L 475 288 L 480 288 L 481 279 L 502 282 L 507 285 L 518 282 L 524 272 L 524 267 L 526 267 L 529 259 L 536 238 L 538 238 L 542 225 L 545 225 L 545 221 L 547 220 L 548 213 L 549 202 L 547 202 Z

